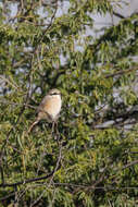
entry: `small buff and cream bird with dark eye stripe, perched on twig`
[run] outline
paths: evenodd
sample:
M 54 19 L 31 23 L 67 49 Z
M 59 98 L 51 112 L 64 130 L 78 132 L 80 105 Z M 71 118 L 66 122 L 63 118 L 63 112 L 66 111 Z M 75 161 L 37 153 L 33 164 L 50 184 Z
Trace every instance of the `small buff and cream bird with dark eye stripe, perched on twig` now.
M 52 131 L 53 131 L 54 123 L 57 122 L 59 113 L 61 111 L 61 106 L 62 106 L 61 92 L 57 88 L 50 89 L 49 93 L 41 100 L 40 105 L 38 106 L 37 118 L 29 126 L 28 133 L 30 133 L 33 127 L 40 120 L 47 120 L 48 122 L 52 122 Z

